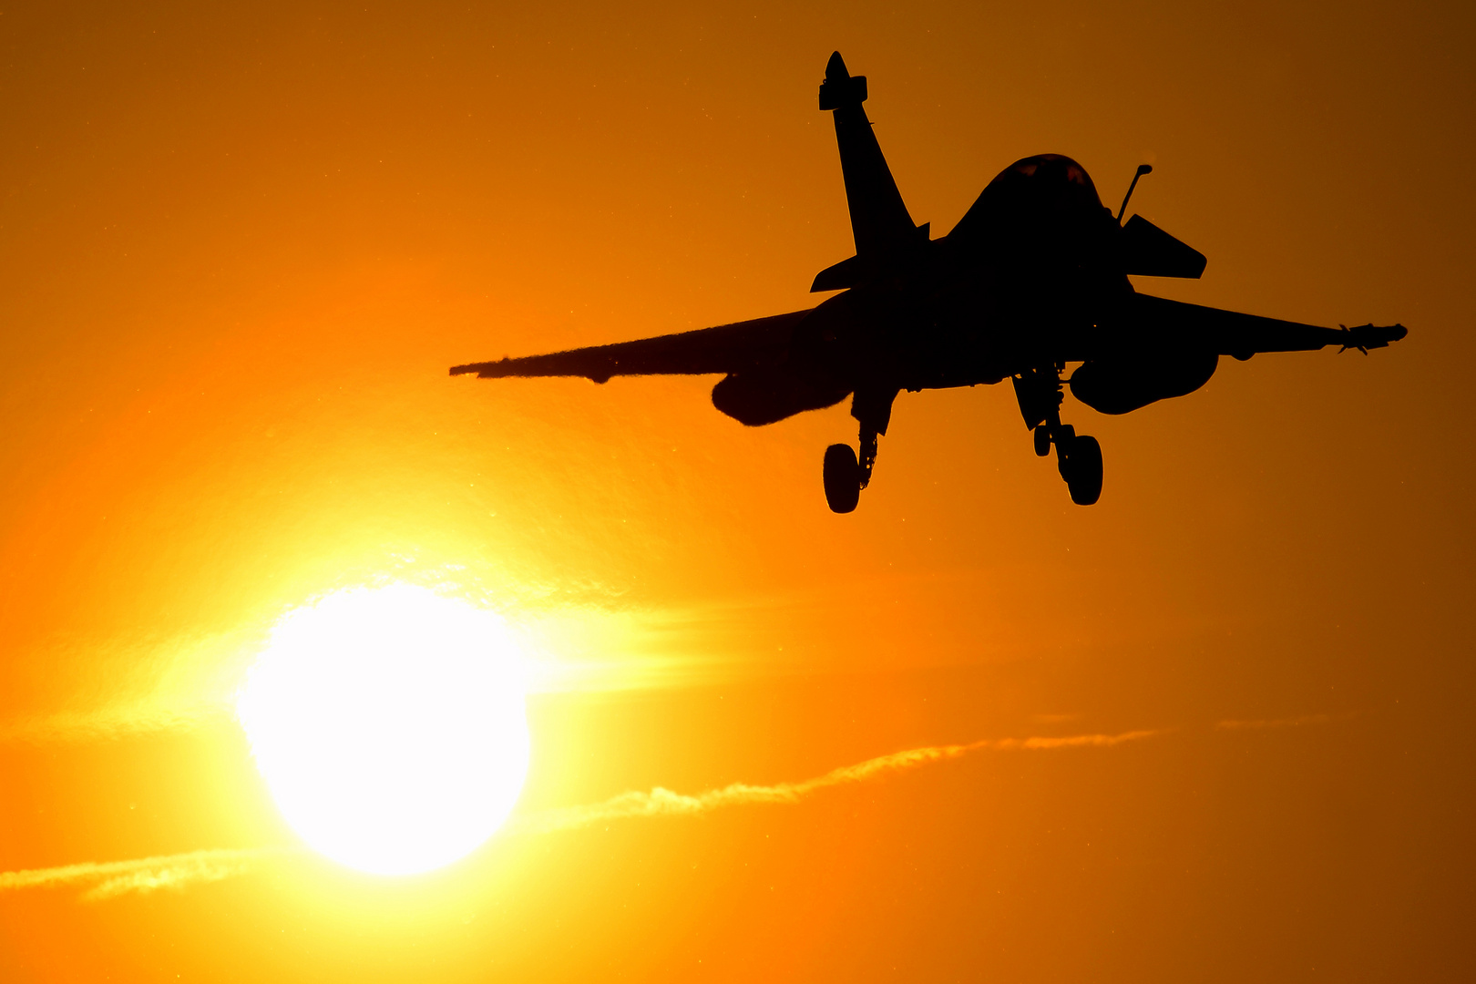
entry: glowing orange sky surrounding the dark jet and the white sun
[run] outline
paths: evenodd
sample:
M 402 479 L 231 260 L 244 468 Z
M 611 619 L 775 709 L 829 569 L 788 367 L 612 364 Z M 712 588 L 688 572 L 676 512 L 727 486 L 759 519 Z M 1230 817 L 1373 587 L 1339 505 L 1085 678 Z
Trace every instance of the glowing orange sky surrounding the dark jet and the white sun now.
M 793 804 L 0 891 L 4 981 L 1467 980 L 1469 4 L 6 7 L 0 872 L 291 844 L 229 714 L 388 578 L 539 661 L 521 810 Z M 1141 289 L 1410 326 L 1104 417 L 1070 505 L 1007 387 L 846 406 L 455 363 L 815 302 L 840 49 L 917 221 L 1027 153 L 1209 257 Z

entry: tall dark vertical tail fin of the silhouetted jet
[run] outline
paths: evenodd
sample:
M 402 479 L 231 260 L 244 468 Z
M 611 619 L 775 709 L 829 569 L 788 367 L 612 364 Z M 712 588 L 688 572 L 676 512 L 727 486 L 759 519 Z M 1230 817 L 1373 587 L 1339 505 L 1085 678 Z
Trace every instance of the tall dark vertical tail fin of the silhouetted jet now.
M 850 232 L 856 238 L 856 255 L 869 260 L 911 246 L 917 227 L 902 204 L 866 111 L 861 108 L 865 99 L 866 77 L 847 72 L 840 52 L 831 55 L 821 83 L 821 109 L 832 109 L 835 115 Z

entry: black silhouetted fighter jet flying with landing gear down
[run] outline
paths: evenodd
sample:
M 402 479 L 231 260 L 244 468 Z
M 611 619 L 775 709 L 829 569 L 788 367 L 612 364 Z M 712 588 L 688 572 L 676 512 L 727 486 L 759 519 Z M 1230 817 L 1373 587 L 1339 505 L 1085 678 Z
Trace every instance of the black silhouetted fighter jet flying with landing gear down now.
M 871 482 L 877 438 L 903 389 L 974 387 L 1008 379 L 1035 453 L 1055 448 L 1072 502 L 1103 488 L 1095 438 L 1061 422 L 1064 388 L 1101 413 L 1128 413 L 1182 397 L 1215 373 L 1221 356 L 1384 348 L 1401 325 L 1318 328 L 1134 289 L 1132 276 L 1191 277 L 1204 255 L 1142 215 L 1104 207 L 1076 161 L 1041 153 L 992 180 L 959 223 L 933 239 L 914 224 L 862 103 L 866 77 L 840 52 L 821 83 L 819 108 L 835 121 L 840 170 L 856 255 L 821 270 L 812 292 L 840 291 L 818 307 L 677 335 L 452 367 L 452 375 L 611 376 L 722 375 L 713 406 L 762 426 L 850 397 L 859 454 L 825 450 L 825 500 L 856 509 Z M 1067 367 L 1073 372 L 1066 376 Z

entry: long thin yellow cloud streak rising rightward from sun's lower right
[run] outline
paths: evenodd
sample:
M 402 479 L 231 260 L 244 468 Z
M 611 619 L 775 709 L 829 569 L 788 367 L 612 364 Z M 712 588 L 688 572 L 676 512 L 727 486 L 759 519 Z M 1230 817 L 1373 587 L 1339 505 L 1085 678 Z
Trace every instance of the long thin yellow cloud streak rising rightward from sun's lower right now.
M 1159 735 L 1156 730 L 1123 732 L 1122 735 L 1072 735 L 1067 738 L 1001 738 L 971 742 L 968 745 L 934 745 L 931 748 L 914 748 L 893 752 L 878 758 L 869 758 L 855 766 L 832 769 L 824 776 L 804 779 L 801 782 L 781 782 L 772 786 L 751 786 L 735 782 L 722 789 L 710 789 L 697 795 L 683 795 L 657 786 L 649 792 L 621 792 L 604 803 L 593 803 L 582 807 L 561 807 L 540 810 L 520 817 L 512 817 L 505 826 L 506 834 L 548 834 L 552 831 L 570 831 L 607 820 L 626 817 L 651 816 L 695 816 L 720 810 L 762 803 L 799 803 L 801 798 L 819 789 L 843 786 L 853 782 L 866 782 L 881 776 L 906 772 L 920 766 L 927 766 L 980 751 L 1013 751 L 1013 749 L 1048 749 L 1048 748 L 1101 748 L 1120 745 Z

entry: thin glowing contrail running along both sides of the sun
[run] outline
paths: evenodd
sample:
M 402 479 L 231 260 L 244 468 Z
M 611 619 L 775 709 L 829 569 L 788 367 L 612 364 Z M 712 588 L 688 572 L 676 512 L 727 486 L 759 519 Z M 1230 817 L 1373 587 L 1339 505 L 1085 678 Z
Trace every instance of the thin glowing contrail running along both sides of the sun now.
M 999 738 L 971 742 L 968 745 L 934 745 L 912 748 L 878 758 L 868 758 L 855 766 L 841 766 L 822 776 L 800 782 L 781 782 L 772 786 L 753 786 L 735 782 L 722 789 L 710 789 L 697 795 L 683 795 L 657 786 L 649 792 L 621 792 L 604 803 L 579 807 L 556 807 L 511 817 L 502 828 L 503 834 L 548 834 L 571 831 L 624 817 L 694 816 L 723 807 L 763 803 L 799 803 L 819 789 L 843 786 L 853 782 L 868 782 L 894 772 L 906 772 L 931 763 L 961 758 L 979 751 L 1046 749 L 1046 748 L 1091 748 L 1110 746 L 1160 735 L 1157 730 L 1123 732 L 1120 735 L 1072 735 L 1069 738 Z M 140 857 L 131 862 L 87 862 L 62 867 L 38 867 L 32 870 L 0 872 L 0 893 L 24 888 L 59 888 L 63 885 L 87 885 L 84 901 L 102 901 L 128 893 L 151 893 L 159 888 L 176 891 L 189 885 L 223 881 L 244 875 L 257 863 L 298 853 L 303 848 L 258 847 L 241 850 L 189 851 L 186 854 L 164 854 Z

